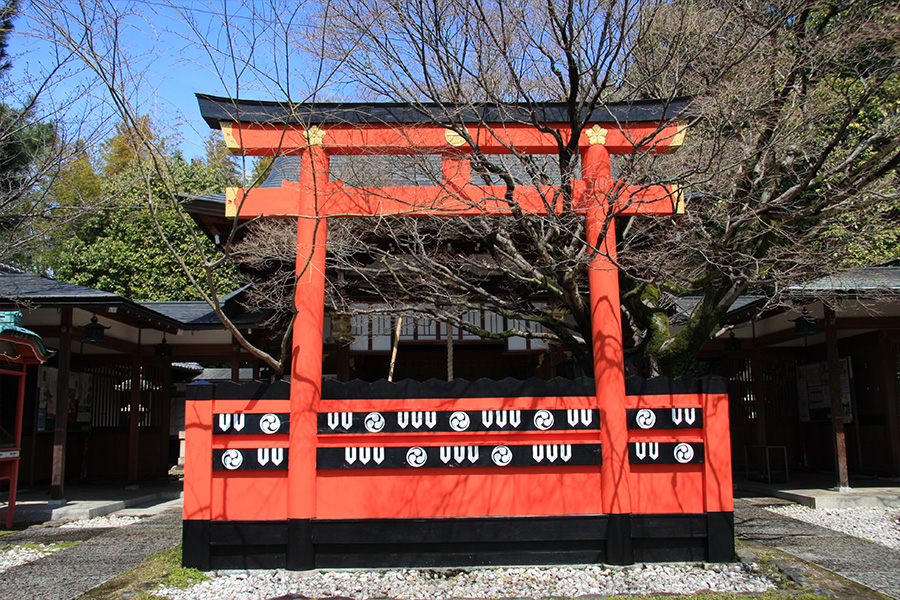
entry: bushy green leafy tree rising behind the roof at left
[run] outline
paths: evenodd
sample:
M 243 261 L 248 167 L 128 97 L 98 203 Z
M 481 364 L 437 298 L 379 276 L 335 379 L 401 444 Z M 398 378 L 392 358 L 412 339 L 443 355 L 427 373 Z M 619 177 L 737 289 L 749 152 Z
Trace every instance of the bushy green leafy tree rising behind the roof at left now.
M 220 173 L 202 161 L 187 162 L 180 154 L 162 159 L 161 174 L 146 170 L 144 156 L 131 155 L 132 162 L 125 164 L 132 148 L 129 139 L 125 129 L 119 128 L 104 144 L 103 171 L 110 176 L 102 181 L 102 190 L 108 203 L 70 228 L 58 251 L 49 257 L 48 267 L 60 280 L 134 300 L 199 299 L 199 292 L 163 242 L 157 223 L 174 253 L 205 284 L 204 264 L 215 258 L 215 249 L 205 238 L 194 237 L 178 210 L 177 195 L 220 191 Z M 93 189 L 95 180 L 84 163 L 73 165 L 71 175 L 80 176 L 80 185 Z M 59 196 L 60 202 L 71 200 L 65 193 Z M 223 293 L 236 285 L 235 272 L 228 268 L 217 269 L 213 279 Z

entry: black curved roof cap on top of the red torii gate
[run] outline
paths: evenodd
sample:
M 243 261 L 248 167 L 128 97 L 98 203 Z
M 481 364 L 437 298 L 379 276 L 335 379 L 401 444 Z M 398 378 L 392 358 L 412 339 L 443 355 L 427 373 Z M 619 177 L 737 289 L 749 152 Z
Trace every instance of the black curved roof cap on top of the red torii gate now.
M 291 103 L 244 100 L 197 94 L 200 114 L 218 129 L 223 121 L 273 125 L 323 124 L 426 124 L 426 123 L 525 123 L 534 118 L 541 123 L 568 123 L 569 107 L 564 102 L 509 104 L 436 104 L 407 102 L 316 102 Z M 669 121 L 690 116 L 691 98 L 635 100 L 604 104 L 584 121 L 597 123 L 640 123 Z

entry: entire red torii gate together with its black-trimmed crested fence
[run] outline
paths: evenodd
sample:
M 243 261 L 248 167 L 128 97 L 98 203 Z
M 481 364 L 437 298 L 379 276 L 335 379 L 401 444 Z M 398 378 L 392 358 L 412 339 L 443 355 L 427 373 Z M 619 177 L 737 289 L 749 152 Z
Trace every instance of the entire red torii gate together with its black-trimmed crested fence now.
M 686 102 L 607 105 L 577 140 L 581 179 L 566 208 L 584 215 L 598 250 L 588 272 L 593 379 L 436 385 L 323 384 L 328 222 L 560 210 L 549 186 L 508 197 L 476 185 L 470 153 L 556 154 L 559 139 L 571 141 L 566 107 L 531 107 L 527 119 L 522 107 L 469 107 L 443 120 L 446 106 L 198 98 L 233 152 L 301 157 L 298 181 L 229 189 L 226 204 L 232 217 L 296 219 L 299 277 L 290 385 L 191 386 L 185 565 L 733 559 L 725 380 L 626 380 L 607 226 L 683 210 L 676 189 L 614 181 L 610 155 L 676 150 Z M 351 188 L 329 177 L 329 157 L 373 154 L 439 155 L 443 181 Z

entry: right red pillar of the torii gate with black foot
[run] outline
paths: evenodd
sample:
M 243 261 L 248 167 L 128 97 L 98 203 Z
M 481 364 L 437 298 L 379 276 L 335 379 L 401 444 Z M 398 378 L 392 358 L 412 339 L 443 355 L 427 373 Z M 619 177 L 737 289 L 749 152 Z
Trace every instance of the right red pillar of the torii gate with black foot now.
M 610 219 L 607 191 L 611 185 L 609 153 L 593 144 L 582 154 L 582 170 L 594 206 L 588 211 L 588 243 L 599 250 L 588 268 L 591 302 L 591 343 L 594 384 L 600 411 L 601 509 L 610 515 L 607 562 L 631 564 L 631 466 L 628 462 L 628 429 L 625 418 L 625 360 L 622 350 L 622 312 L 619 271 L 615 264 L 616 231 Z M 608 225 L 604 231 L 604 225 Z

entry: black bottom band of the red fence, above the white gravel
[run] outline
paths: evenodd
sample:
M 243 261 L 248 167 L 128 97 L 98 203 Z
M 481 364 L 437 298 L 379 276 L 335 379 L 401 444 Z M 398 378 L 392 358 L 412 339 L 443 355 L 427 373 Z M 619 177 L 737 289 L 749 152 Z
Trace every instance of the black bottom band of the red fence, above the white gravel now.
M 183 562 L 215 569 L 731 562 L 734 514 L 184 521 Z

